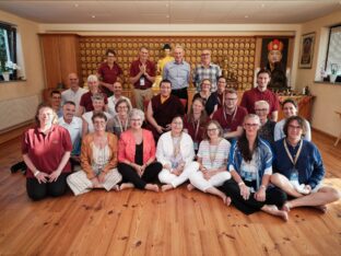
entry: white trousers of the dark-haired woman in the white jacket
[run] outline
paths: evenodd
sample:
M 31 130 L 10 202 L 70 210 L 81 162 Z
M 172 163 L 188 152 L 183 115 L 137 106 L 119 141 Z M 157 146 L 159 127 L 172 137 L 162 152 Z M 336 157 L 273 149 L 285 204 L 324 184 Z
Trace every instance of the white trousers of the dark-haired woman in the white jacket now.
M 191 162 L 187 164 L 184 168 L 184 172 L 176 176 L 175 174 L 170 173 L 169 170 L 163 168 L 158 173 L 158 179 L 161 183 L 170 184 L 174 188 L 185 183 L 189 176 L 199 170 L 198 162 Z

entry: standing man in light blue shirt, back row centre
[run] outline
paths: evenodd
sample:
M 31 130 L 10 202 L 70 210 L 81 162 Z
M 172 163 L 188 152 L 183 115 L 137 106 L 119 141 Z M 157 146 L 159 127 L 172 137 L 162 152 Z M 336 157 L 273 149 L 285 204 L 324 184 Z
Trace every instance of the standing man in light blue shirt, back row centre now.
M 172 83 L 172 95 L 184 98 L 188 102 L 187 88 L 190 81 L 190 66 L 184 60 L 185 50 L 177 45 L 174 49 L 174 61 L 166 63 L 163 71 L 163 79 Z M 186 112 L 187 112 L 186 102 Z

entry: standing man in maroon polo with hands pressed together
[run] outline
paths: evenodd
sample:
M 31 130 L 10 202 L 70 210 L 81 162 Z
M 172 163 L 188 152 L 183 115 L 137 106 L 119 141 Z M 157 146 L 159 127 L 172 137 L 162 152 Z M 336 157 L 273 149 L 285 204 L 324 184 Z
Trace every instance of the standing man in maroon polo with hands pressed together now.
M 143 102 L 151 100 L 153 96 L 152 85 L 155 81 L 156 67 L 155 63 L 148 59 L 149 50 L 142 46 L 140 48 L 140 57 L 130 66 L 130 82 L 133 84 L 133 94 L 136 105 L 144 110 Z

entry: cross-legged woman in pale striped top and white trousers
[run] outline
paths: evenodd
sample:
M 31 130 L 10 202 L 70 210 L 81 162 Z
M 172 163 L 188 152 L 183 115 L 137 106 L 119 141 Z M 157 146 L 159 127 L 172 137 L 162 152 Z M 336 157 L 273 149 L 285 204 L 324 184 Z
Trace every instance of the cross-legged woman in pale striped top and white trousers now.
M 227 172 L 227 159 L 230 142 L 223 138 L 223 129 L 216 120 L 211 120 L 207 125 L 204 140 L 201 141 L 198 152 L 199 171 L 189 176 L 190 184 L 188 190 L 198 188 L 201 191 L 216 195 L 223 199 L 224 203 L 231 201 L 220 187 L 231 178 Z M 230 199 L 230 198 L 228 198 Z

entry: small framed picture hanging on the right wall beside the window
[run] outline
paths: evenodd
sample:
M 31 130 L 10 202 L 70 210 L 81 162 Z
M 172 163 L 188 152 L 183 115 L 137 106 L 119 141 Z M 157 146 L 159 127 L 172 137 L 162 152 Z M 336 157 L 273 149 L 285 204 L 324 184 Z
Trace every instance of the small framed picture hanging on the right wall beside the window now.
M 299 62 L 301 69 L 311 69 L 315 45 L 315 32 L 305 34 L 301 38 Z

